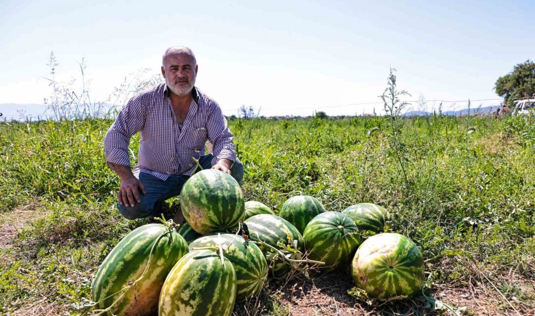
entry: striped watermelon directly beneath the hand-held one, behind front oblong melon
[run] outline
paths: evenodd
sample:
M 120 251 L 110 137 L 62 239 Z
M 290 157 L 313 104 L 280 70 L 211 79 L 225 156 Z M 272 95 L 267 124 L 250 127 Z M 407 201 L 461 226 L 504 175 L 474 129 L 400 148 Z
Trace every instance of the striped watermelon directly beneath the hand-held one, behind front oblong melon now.
M 234 271 L 236 271 L 238 279 L 236 301 L 241 302 L 258 294 L 268 278 L 268 263 L 260 248 L 254 243 L 245 241 L 239 235 L 218 233 L 198 238 L 189 244 L 189 249 L 194 251 L 194 248 L 218 246 L 219 244 L 223 246 L 224 250 L 227 250 L 224 256 L 231 261 Z

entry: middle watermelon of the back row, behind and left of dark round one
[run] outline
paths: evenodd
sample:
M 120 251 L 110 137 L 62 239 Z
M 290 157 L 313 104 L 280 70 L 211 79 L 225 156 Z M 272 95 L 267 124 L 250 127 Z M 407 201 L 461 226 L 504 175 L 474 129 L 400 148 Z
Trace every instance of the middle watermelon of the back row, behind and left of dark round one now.
M 303 234 L 308 222 L 323 212 L 325 212 L 325 207 L 317 198 L 309 195 L 298 195 L 287 199 L 282 204 L 280 217 L 291 222 Z

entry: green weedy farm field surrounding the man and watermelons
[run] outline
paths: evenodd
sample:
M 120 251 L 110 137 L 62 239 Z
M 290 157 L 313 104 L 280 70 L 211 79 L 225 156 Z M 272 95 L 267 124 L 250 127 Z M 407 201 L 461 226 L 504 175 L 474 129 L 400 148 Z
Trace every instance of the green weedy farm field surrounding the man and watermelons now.
M 147 220 L 114 206 L 111 120 L 0 123 L 0 314 L 79 314 L 114 245 Z M 371 202 L 422 251 L 411 300 L 373 302 L 348 271 L 269 280 L 236 315 L 535 314 L 535 119 L 229 120 L 246 201 L 277 213 L 311 195 L 327 211 Z M 135 163 L 139 135 L 132 138 Z M 177 198 L 170 200 L 175 207 Z M 347 265 L 349 268 L 349 265 Z M 350 295 L 348 293 L 353 295 Z

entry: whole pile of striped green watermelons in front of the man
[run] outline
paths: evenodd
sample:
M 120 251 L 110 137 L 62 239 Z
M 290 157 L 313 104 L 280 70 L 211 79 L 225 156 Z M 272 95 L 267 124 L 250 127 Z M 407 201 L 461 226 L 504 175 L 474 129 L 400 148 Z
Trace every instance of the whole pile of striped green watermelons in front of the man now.
M 370 297 L 422 289 L 421 252 L 406 236 L 385 233 L 391 215 L 379 205 L 333 212 L 315 197 L 294 196 L 276 215 L 245 202 L 238 182 L 214 169 L 190 177 L 180 204 L 187 222 L 178 231 L 163 220 L 141 226 L 104 259 L 93 281 L 98 311 L 231 315 L 268 276 L 284 278 L 303 262 L 320 273 L 350 269 Z

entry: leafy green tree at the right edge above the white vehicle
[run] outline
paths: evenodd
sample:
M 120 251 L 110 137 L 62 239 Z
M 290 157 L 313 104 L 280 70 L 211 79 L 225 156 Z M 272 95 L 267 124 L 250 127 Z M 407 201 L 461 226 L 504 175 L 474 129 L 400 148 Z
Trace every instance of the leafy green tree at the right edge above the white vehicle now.
M 531 97 L 535 94 L 535 63 L 528 59 L 516 65 L 512 72 L 496 80 L 494 91 L 505 98 L 506 104 L 516 98 Z

